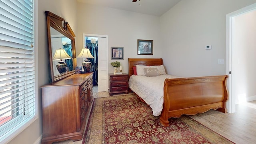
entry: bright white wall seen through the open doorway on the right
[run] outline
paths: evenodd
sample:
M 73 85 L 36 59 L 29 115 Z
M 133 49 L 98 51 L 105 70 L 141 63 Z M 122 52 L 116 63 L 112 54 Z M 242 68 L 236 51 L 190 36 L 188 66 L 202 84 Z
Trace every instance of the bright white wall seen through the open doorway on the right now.
M 256 99 L 256 10 L 232 22 L 232 94 L 239 104 Z

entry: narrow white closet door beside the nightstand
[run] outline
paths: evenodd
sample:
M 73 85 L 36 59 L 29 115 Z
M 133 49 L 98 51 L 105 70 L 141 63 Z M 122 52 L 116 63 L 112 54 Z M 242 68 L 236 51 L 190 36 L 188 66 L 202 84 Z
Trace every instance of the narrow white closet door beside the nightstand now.
M 107 40 L 98 38 L 98 92 L 108 91 Z

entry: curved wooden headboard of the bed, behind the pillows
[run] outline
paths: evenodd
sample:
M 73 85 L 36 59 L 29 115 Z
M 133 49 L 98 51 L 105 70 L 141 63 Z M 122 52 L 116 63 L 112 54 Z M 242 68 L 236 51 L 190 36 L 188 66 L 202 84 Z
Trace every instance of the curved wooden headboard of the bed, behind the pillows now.
M 133 75 L 133 66 L 136 66 L 137 64 L 145 65 L 145 66 L 158 66 L 162 65 L 163 59 L 162 58 L 128 58 L 129 63 L 129 78 L 131 75 Z

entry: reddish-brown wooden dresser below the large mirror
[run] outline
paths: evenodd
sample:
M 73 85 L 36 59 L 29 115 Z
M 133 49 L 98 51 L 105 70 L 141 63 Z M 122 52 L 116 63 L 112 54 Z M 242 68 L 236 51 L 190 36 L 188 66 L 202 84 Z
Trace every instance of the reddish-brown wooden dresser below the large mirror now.
M 92 108 L 92 72 L 42 86 L 42 144 L 82 140 Z

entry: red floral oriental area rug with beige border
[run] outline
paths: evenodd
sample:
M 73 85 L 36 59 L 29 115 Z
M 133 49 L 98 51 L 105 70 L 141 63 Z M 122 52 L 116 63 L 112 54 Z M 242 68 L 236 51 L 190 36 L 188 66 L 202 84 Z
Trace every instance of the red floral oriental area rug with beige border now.
M 189 116 L 164 127 L 134 94 L 95 98 L 85 144 L 233 144 Z

